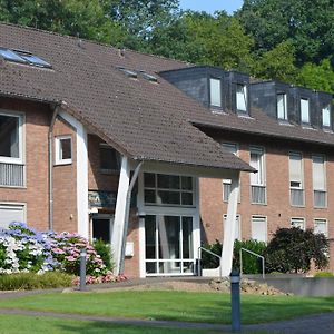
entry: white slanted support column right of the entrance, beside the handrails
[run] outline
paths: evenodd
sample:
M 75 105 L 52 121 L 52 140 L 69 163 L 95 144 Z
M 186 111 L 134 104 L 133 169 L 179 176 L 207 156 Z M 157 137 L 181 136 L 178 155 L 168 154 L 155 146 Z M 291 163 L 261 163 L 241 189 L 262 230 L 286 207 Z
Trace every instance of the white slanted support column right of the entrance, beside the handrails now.
M 239 173 L 232 177 L 232 191 L 228 198 L 227 218 L 224 229 L 224 242 L 222 249 L 220 274 L 229 276 L 233 262 L 233 249 L 236 233 L 236 215 L 239 194 Z

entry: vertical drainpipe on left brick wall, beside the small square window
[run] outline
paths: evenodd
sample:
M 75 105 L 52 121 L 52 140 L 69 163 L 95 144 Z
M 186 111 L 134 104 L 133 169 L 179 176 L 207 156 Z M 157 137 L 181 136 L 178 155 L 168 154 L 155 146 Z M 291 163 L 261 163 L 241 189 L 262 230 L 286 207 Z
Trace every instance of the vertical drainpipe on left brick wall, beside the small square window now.
M 53 232 L 53 127 L 59 111 L 59 106 L 53 109 L 49 134 L 49 230 Z

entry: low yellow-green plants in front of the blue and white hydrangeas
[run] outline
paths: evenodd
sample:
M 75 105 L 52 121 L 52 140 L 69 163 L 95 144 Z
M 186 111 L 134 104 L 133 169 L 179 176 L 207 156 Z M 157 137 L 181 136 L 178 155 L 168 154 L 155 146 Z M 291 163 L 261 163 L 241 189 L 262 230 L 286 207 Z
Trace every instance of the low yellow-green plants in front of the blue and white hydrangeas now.
M 36 273 L 18 273 L 11 275 L 0 275 L 0 289 L 33 289 L 33 288 L 56 288 L 72 285 L 72 276 L 48 272 L 42 275 Z

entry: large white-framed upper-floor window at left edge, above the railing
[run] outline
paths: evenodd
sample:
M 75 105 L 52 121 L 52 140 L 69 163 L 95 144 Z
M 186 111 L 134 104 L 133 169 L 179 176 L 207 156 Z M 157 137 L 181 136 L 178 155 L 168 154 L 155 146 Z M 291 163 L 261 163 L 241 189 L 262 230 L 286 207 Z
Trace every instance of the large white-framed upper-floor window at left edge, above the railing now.
M 23 163 L 23 115 L 0 110 L 0 163 Z

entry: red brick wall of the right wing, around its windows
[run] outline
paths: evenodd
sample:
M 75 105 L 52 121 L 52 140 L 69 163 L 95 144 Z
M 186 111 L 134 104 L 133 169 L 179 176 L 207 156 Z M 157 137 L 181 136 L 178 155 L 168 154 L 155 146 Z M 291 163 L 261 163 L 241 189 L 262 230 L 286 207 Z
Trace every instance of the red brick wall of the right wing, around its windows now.
M 252 236 L 252 215 L 267 218 L 267 233 L 271 239 L 277 227 L 289 227 L 292 217 L 305 218 L 306 228 L 314 227 L 315 218 L 327 219 L 328 237 L 334 238 L 334 155 L 325 148 L 312 145 L 297 145 L 285 141 L 261 140 L 256 138 L 235 136 L 225 137 L 210 134 L 222 143 L 237 143 L 238 156 L 249 163 L 249 145 L 262 146 L 265 149 L 267 204 L 250 204 L 249 175 L 240 175 L 240 203 L 237 213 L 242 220 L 242 238 Z M 288 151 L 303 153 L 305 206 L 293 207 L 289 204 Z M 313 207 L 312 155 L 326 156 L 327 208 Z M 222 179 L 200 179 L 200 215 L 204 228 L 204 242 L 214 243 L 223 238 L 223 215 L 227 213 L 227 203 L 223 202 Z M 331 247 L 331 268 L 334 269 L 334 245 Z

